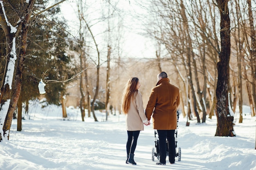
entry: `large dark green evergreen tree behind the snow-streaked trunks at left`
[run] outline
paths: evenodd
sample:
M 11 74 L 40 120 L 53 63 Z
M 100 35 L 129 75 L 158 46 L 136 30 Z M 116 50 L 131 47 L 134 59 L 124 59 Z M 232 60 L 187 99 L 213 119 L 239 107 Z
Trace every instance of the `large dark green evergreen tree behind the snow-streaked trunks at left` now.
M 42 0 L 40 4 L 46 2 Z M 38 5 L 38 12 L 44 9 L 43 5 Z M 44 82 L 56 80 L 54 83 L 47 83 L 45 97 L 48 104 L 59 105 L 60 94 L 65 94 L 65 83 L 61 81 L 69 79 L 74 74 L 71 73 L 70 56 L 66 52 L 69 43 L 65 33 L 65 20 L 59 18 L 60 12 L 60 8 L 56 6 L 33 18 L 28 33 L 22 102 L 36 99 L 40 95 L 38 82 L 42 78 Z

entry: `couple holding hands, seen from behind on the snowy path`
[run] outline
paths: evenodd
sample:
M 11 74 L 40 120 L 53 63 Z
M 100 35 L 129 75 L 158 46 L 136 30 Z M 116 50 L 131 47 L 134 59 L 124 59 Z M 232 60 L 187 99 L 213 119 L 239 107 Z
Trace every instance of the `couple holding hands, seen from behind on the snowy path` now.
M 157 75 L 157 84 L 151 89 L 150 97 L 144 112 L 142 95 L 138 91 L 139 79 L 132 77 L 128 80 L 122 97 L 122 111 L 126 114 L 127 130 L 127 164 L 136 165 L 134 152 L 137 146 L 139 132 L 144 125 L 150 125 L 151 115 L 153 129 L 157 130 L 159 137 L 160 160 L 157 165 L 166 164 L 166 139 L 169 143 L 169 162 L 175 162 L 175 129 L 177 128 L 177 107 L 180 104 L 179 88 L 170 84 L 165 72 Z

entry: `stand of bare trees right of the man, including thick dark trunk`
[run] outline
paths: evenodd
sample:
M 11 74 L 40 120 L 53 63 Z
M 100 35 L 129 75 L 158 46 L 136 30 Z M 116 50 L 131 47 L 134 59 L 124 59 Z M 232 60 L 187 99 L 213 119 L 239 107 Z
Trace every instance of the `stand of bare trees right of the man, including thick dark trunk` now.
M 215 113 L 216 135 L 234 136 L 232 112 L 238 104 L 241 123 L 243 97 L 255 116 L 255 2 L 151 0 L 141 7 L 149 9 L 148 35 L 162 47 L 156 57 L 171 62 L 180 75 L 188 114 L 200 123 L 202 113 L 204 123 Z

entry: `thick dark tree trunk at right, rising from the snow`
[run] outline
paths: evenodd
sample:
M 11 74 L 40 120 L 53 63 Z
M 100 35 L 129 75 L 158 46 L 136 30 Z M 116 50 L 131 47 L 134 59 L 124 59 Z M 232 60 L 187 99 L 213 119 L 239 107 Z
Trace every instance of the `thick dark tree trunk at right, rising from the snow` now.
M 217 63 L 218 82 L 216 88 L 217 129 L 215 136 L 236 136 L 233 128 L 234 116 L 229 110 L 229 60 L 230 60 L 230 18 L 229 0 L 216 0 L 220 10 L 220 61 Z

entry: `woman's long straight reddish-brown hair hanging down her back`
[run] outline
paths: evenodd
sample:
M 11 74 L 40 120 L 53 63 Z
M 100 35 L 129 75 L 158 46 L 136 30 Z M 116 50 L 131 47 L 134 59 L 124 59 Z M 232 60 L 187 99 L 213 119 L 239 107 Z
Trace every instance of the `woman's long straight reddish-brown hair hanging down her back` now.
M 137 89 L 137 84 L 139 82 L 139 79 L 137 77 L 132 77 L 128 80 L 126 83 L 126 86 L 124 88 L 124 93 L 123 93 L 123 99 L 122 99 L 122 110 L 124 114 L 128 113 L 128 110 L 130 109 L 130 101 L 132 97 L 135 94 L 135 97 L 138 93 Z

